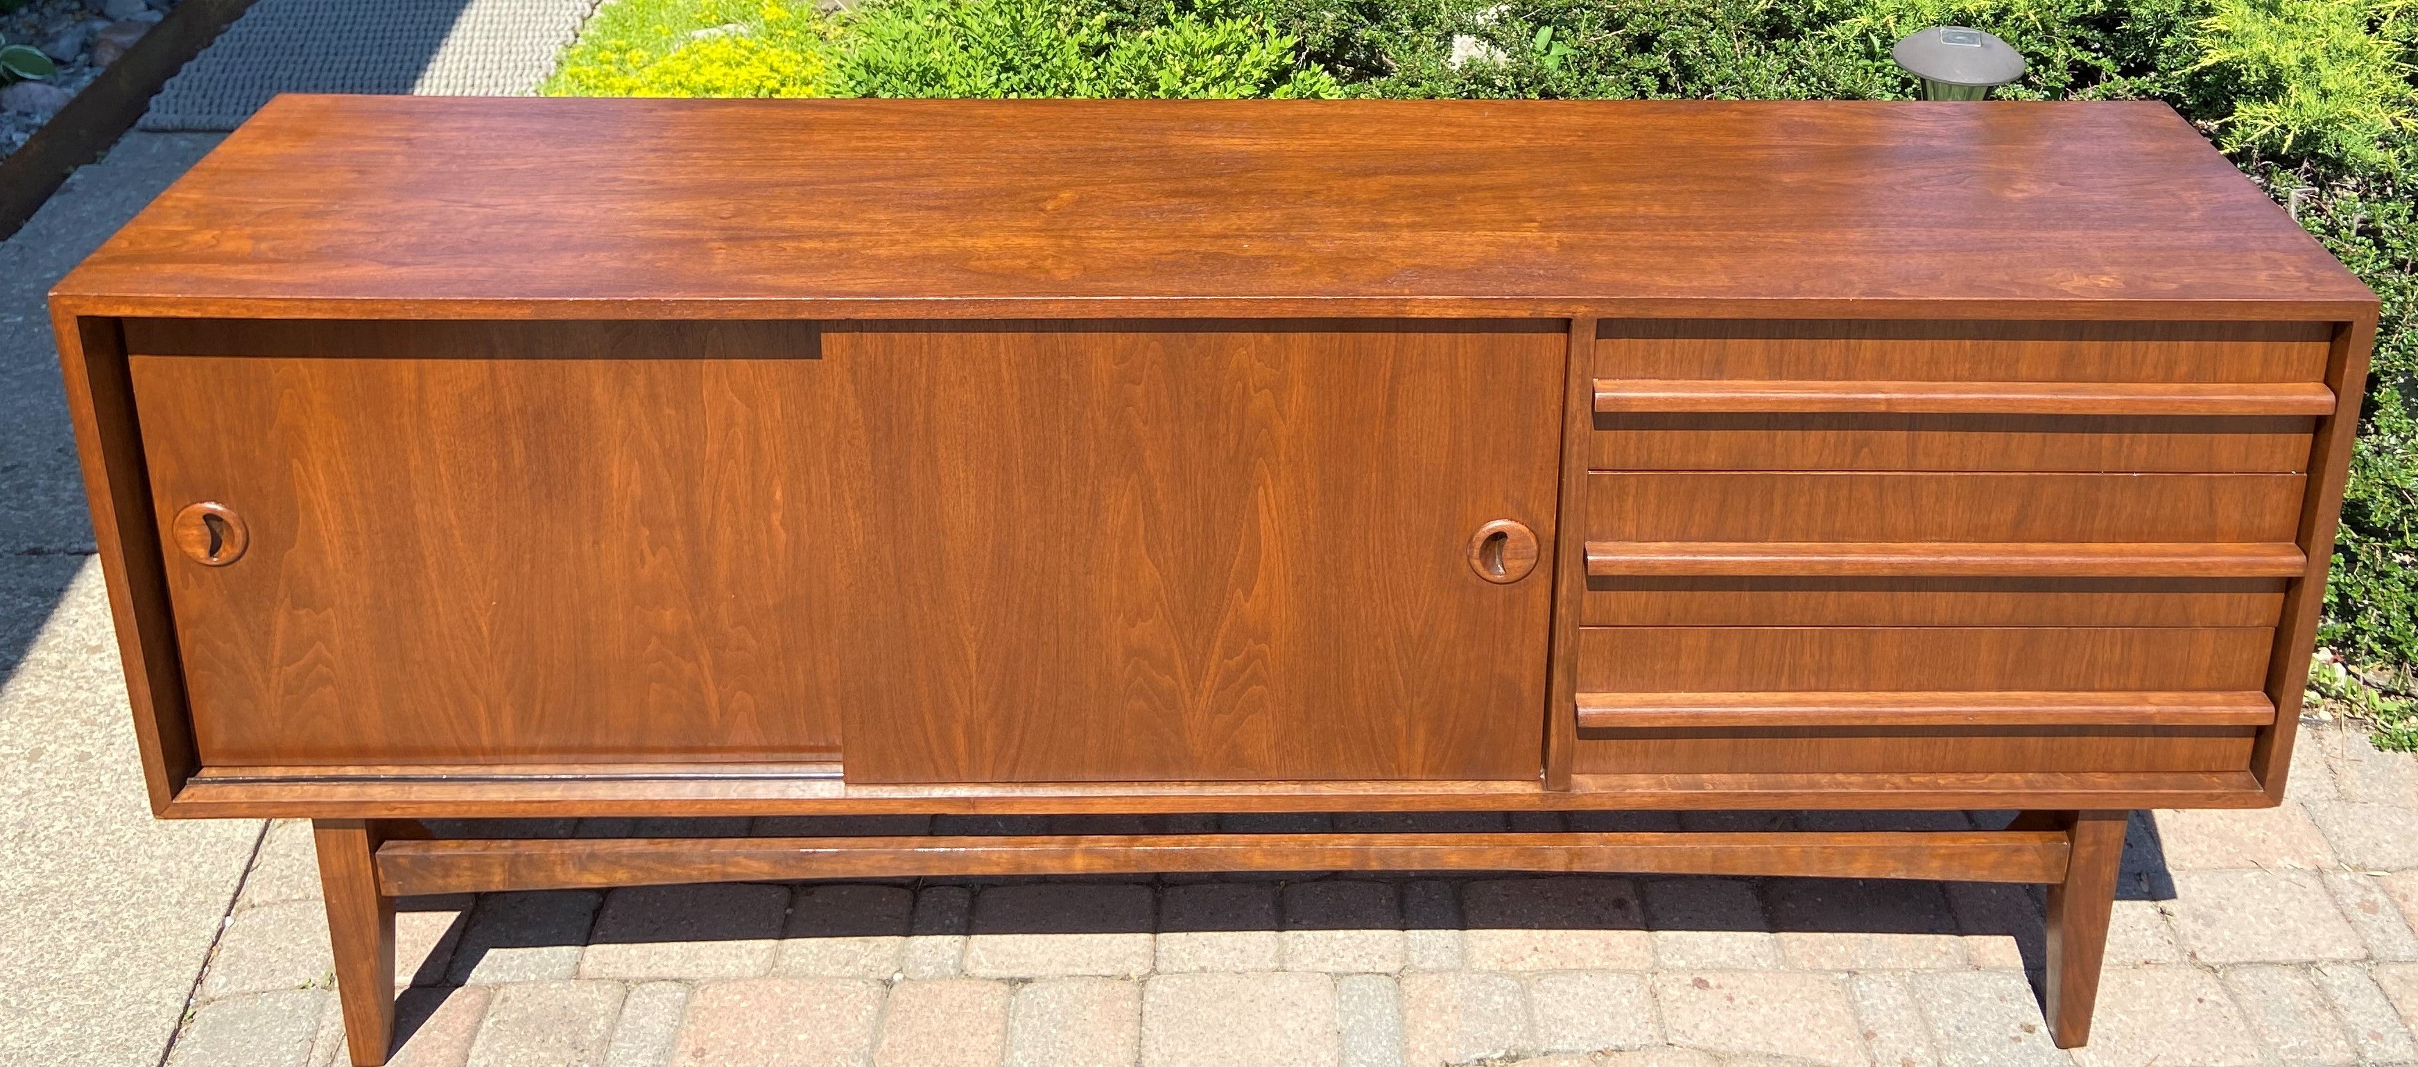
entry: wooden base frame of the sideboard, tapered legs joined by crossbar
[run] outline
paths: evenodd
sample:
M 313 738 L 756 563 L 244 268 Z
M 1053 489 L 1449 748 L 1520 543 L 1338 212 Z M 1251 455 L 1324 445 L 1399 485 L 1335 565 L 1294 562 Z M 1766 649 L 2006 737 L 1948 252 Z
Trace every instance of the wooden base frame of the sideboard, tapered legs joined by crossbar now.
M 1313 832 L 1052 837 L 438 840 L 411 820 L 317 820 L 353 1065 L 394 1040 L 394 898 L 708 881 L 1165 871 L 1552 871 L 1951 878 L 2048 886 L 2046 1016 L 2089 1040 L 2125 811 L 2026 811 L 1968 832 Z

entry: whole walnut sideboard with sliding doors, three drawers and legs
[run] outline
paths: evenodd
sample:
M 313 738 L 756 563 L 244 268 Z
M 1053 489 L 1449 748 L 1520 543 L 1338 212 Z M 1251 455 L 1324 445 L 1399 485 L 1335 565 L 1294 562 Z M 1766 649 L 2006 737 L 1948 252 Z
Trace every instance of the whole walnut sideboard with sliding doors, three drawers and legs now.
M 150 801 L 317 820 L 358 1065 L 399 895 L 1224 869 L 2046 883 L 2077 1045 L 2125 813 L 2285 786 L 2377 324 L 2012 102 L 280 97 L 51 305 Z M 1644 808 L 2021 815 L 423 823 Z

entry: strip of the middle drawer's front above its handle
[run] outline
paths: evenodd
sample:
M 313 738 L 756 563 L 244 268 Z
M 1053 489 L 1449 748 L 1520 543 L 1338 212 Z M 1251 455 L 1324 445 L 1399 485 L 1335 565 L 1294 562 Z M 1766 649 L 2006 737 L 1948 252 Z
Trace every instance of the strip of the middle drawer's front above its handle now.
M 1589 542 L 2292 542 L 2290 474 L 1591 474 Z

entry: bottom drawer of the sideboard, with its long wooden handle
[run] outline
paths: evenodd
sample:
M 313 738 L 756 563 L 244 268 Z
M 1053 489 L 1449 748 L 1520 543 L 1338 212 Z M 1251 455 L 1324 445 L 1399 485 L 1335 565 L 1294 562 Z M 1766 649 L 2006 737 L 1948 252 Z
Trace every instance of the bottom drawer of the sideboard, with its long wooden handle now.
M 1591 627 L 1577 774 L 2229 772 L 2258 627 Z

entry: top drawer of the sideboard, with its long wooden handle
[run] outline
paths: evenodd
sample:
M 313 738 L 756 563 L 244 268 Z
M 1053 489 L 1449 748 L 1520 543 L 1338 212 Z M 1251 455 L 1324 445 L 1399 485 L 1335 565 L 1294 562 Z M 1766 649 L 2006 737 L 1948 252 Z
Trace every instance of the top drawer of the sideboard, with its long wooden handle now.
M 1596 469 L 2300 472 L 2326 324 L 1608 322 Z

